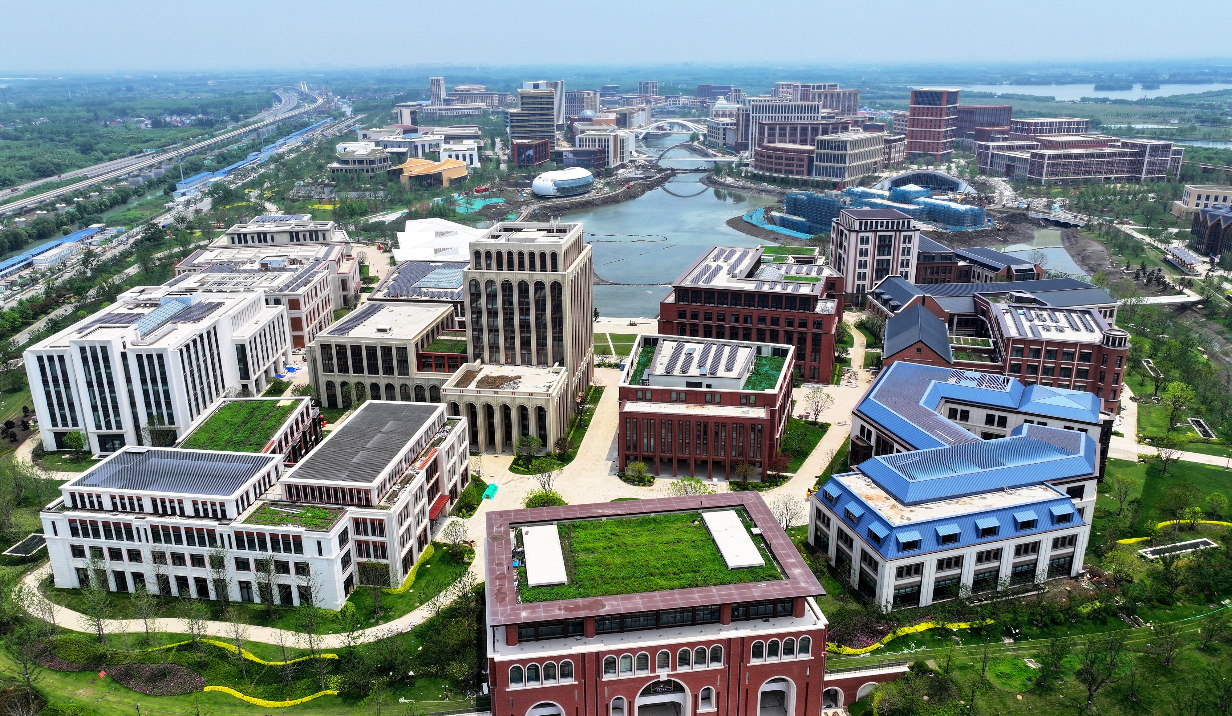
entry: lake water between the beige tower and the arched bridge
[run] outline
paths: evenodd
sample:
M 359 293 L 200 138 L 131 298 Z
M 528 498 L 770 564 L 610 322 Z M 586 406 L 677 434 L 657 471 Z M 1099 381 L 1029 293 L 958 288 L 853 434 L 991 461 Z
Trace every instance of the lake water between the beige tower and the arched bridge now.
M 715 190 L 702 174 L 673 177 L 642 196 L 567 213 L 563 222 L 582 222 L 593 246 L 595 272 L 621 283 L 595 286 L 595 307 L 602 315 L 653 318 L 659 301 L 702 251 L 713 245 L 755 246 L 748 234 L 727 227 L 727 219 L 750 208 L 775 206 L 768 196 Z

